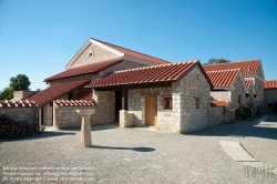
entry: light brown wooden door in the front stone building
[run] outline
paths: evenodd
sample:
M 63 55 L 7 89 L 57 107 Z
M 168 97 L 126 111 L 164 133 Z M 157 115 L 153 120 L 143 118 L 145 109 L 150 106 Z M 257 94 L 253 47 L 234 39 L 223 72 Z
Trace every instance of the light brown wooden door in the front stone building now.
M 157 121 L 157 98 L 156 95 L 145 96 L 145 125 L 156 126 Z

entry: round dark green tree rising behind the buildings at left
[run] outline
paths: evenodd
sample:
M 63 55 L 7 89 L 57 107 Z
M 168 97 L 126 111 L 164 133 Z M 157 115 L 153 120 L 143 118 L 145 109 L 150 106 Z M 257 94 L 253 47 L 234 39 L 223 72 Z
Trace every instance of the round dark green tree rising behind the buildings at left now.
M 29 78 L 24 74 L 18 74 L 16 78 L 10 79 L 10 88 L 13 91 L 30 90 L 30 84 Z

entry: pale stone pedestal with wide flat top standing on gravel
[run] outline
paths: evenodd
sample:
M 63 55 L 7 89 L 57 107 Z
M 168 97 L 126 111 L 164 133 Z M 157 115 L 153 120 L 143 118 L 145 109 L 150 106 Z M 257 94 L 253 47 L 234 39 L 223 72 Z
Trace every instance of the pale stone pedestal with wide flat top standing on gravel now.
M 84 147 L 91 146 L 91 122 L 90 116 L 95 110 L 76 110 L 76 113 L 82 116 L 81 126 L 81 144 Z

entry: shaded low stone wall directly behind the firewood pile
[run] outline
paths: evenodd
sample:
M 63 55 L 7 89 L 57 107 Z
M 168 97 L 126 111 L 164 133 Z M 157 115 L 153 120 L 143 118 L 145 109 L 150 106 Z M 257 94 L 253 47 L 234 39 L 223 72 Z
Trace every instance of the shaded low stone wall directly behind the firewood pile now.
M 37 108 L 7 108 L 0 109 L 0 115 L 8 114 L 19 123 L 27 123 L 32 130 L 37 130 Z

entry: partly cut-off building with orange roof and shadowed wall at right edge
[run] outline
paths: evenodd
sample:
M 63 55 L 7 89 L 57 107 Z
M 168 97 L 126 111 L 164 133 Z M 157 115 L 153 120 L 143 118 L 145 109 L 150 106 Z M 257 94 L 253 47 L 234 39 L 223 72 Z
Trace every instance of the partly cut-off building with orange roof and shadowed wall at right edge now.
M 265 81 L 265 111 L 277 112 L 277 80 Z

